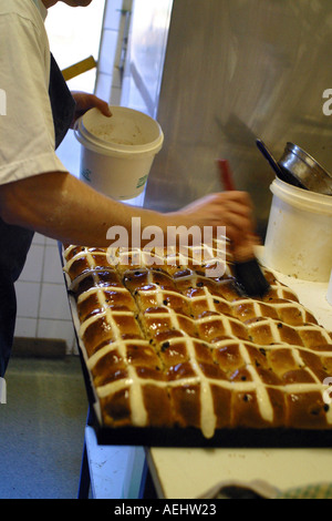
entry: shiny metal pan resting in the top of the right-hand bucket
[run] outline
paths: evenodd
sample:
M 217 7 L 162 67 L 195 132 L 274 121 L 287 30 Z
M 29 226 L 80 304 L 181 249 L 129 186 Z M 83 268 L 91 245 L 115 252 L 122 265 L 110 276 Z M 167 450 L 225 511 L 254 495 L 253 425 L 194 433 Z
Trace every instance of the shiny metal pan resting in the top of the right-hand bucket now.
M 301 187 L 319 194 L 332 195 L 331 175 L 307 152 L 287 143 L 279 166 L 294 177 Z

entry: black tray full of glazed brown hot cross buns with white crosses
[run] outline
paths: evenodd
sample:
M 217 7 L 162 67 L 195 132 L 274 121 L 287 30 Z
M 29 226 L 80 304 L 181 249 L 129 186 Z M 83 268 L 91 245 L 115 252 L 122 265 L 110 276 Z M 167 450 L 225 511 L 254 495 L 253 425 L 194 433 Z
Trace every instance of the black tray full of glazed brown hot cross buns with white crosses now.
M 61 254 L 101 443 L 330 446 L 332 333 L 270 269 L 249 298 L 227 248 Z

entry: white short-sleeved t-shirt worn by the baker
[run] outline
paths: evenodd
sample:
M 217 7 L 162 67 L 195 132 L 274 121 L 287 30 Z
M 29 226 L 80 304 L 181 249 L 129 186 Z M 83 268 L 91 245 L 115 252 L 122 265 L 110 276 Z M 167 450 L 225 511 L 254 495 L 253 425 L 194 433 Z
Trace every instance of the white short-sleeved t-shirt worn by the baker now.
M 38 3 L 0 0 L 0 184 L 66 171 L 54 152 L 46 9 Z

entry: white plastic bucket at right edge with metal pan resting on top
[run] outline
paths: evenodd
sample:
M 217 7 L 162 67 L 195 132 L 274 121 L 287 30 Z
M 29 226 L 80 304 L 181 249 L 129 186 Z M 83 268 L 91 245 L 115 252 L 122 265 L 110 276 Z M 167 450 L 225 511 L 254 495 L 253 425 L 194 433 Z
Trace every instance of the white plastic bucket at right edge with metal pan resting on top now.
M 329 282 L 332 268 L 332 196 L 276 178 L 263 262 L 284 275 Z

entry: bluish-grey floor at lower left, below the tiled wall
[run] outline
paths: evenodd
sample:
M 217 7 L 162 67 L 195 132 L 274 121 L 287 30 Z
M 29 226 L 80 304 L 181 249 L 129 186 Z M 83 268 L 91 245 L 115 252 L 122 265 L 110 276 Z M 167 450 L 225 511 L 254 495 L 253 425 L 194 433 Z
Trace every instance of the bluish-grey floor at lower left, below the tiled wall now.
M 6 381 L 0 499 L 75 499 L 87 413 L 79 357 L 12 358 Z

